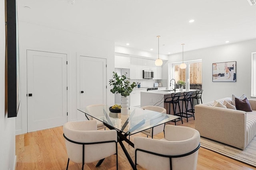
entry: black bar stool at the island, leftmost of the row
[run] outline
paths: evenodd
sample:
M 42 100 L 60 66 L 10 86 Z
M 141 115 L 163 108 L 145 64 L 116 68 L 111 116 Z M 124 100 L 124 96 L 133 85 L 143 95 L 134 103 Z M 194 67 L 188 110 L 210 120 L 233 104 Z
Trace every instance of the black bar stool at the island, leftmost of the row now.
M 178 122 L 178 121 L 181 121 L 182 124 L 183 124 L 183 120 L 182 120 L 181 115 L 178 115 L 178 113 L 176 113 L 177 104 L 178 104 L 179 109 L 180 109 L 180 94 L 181 94 L 180 92 L 172 93 L 172 96 L 170 97 L 172 100 L 170 100 L 170 98 L 166 98 L 164 100 L 164 103 L 168 103 L 169 104 L 169 114 L 171 114 L 171 104 L 172 104 L 173 115 L 180 116 L 180 118 L 172 120 L 172 122 L 174 122 L 175 125 L 176 125 L 176 122 Z M 175 105 L 175 107 L 174 107 L 174 105 Z

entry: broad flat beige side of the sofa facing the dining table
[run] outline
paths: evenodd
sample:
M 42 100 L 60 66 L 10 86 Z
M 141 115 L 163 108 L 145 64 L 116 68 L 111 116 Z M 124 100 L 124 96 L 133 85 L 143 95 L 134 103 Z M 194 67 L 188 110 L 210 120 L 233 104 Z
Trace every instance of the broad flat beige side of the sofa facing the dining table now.
M 195 129 L 202 137 L 244 149 L 246 112 L 221 107 L 195 106 Z

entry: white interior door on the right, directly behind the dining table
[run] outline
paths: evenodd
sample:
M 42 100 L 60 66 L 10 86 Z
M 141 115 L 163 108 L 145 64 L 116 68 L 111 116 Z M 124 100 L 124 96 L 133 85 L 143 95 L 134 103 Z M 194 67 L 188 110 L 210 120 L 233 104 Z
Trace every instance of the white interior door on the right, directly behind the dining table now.
M 80 56 L 80 108 L 106 104 L 106 87 L 106 59 Z

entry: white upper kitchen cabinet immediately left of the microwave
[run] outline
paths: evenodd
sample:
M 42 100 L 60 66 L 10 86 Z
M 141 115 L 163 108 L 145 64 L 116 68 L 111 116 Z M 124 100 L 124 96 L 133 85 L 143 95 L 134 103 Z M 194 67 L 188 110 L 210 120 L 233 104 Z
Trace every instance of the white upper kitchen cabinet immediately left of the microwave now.
M 130 57 L 130 79 L 142 79 L 142 59 Z

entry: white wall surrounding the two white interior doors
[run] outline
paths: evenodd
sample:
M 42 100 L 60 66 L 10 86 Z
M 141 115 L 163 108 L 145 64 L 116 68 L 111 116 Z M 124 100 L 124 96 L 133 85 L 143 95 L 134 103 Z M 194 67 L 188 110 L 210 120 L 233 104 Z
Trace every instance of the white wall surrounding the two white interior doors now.
M 69 120 L 78 119 L 77 111 L 77 56 L 98 57 L 107 60 L 107 84 L 114 71 L 114 42 L 96 39 L 72 32 L 19 22 L 21 53 L 21 109 L 16 119 L 16 134 L 26 133 L 26 50 L 40 50 L 68 55 L 68 113 Z M 96 70 L 92 70 L 91 74 Z M 95 89 L 97 90 L 97 89 Z M 107 88 L 107 103 L 114 103 L 114 94 Z

